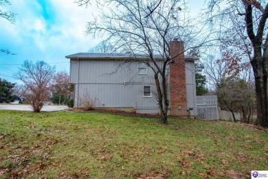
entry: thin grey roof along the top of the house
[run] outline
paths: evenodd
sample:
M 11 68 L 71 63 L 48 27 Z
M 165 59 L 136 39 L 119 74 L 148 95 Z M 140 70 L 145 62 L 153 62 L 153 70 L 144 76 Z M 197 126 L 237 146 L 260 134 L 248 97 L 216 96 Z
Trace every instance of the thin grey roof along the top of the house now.
M 70 54 L 65 56 L 67 59 L 100 59 L 100 60 L 142 60 L 148 58 L 146 54 L 110 54 L 110 53 L 77 53 L 77 54 Z M 160 54 L 156 54 L 155 59 L 162 60 L 163 57 Z M 197 57 L 194 56 L 184 56 L 184 59 L 188 61 L 197 60 Z

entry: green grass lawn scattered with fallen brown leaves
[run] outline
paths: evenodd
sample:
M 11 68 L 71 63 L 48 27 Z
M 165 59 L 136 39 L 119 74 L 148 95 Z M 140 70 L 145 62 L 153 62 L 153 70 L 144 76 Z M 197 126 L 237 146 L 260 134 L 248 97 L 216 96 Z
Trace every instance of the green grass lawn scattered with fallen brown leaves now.
M 267 141 L 228 122 L 0 111 L 0 178 L 249 178 Z

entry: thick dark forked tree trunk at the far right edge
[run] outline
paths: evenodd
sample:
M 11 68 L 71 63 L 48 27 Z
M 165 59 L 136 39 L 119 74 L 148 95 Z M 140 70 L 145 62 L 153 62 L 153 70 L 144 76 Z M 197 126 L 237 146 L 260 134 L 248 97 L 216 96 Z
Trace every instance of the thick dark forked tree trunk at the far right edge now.
M 254 71 L 257 120 L 256 125 L 268 127 L 268 98 L 267 98 L 267 70 L 268 70 L 268 34 L 266 34 L 265 43 L 263 43 L 263 33 L 268 18 L 268 4 L 265 6 L 263 15 L 260 16 L 256 35 L 254 34 L 254 22 L 252 15 L 252 5 L 245 6 L 245 21 L 247 25 L 247 34 L 252 41 L 254 56 L 250 63 Z

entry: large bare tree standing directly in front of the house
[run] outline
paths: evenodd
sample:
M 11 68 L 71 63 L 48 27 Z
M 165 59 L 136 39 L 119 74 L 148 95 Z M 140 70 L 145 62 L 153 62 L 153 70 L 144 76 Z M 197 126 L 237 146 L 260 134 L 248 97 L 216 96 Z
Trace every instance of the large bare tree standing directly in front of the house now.
M 78 1 L 80 5 L 89 1 Z M 144 54 L 143 62 L 153 70 L 161 122 L 167 123 L 168 65 L 175 63 L 179 54 L 171 54 L 170 41 L 179 39 L 190 47 L 194 26 L 187 14 L 178 11 L 184 1 L 103 1 L 102 13 L 87 23 L 87 34 L 93 37 L 107 36 L 115 50 L 130 52 L 133 56 Z M 158 8 L 155 8 L 158 7 Z M 149 11 L 150 10 L 150 11 Z M 192 35 L 192 36 L 191 36 Z M 160 54 L 162 61 L 157 60 Z M 126 61 L 127 62 L 127 61 Z

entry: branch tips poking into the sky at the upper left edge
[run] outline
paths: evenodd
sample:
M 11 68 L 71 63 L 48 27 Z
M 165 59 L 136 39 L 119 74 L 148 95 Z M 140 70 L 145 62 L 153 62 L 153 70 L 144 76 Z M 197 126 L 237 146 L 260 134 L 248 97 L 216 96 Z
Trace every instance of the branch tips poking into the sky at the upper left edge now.
M 11 3 L 8 0 L 0 0 L 0 6 L 7 6 L 10 4 Z M 10 12 L 10 11 L 3 11 L 0 9 L 0 17 L 10 21 L 11 23 L 15 23 L 15 21 L 16 21 L 16 14 L 14 14 L 13 12 Z M 2 49 L 2 48 L 0 48 L 0 53 L 14 55 L 14 53 L 10 52 L 10 50 Z

